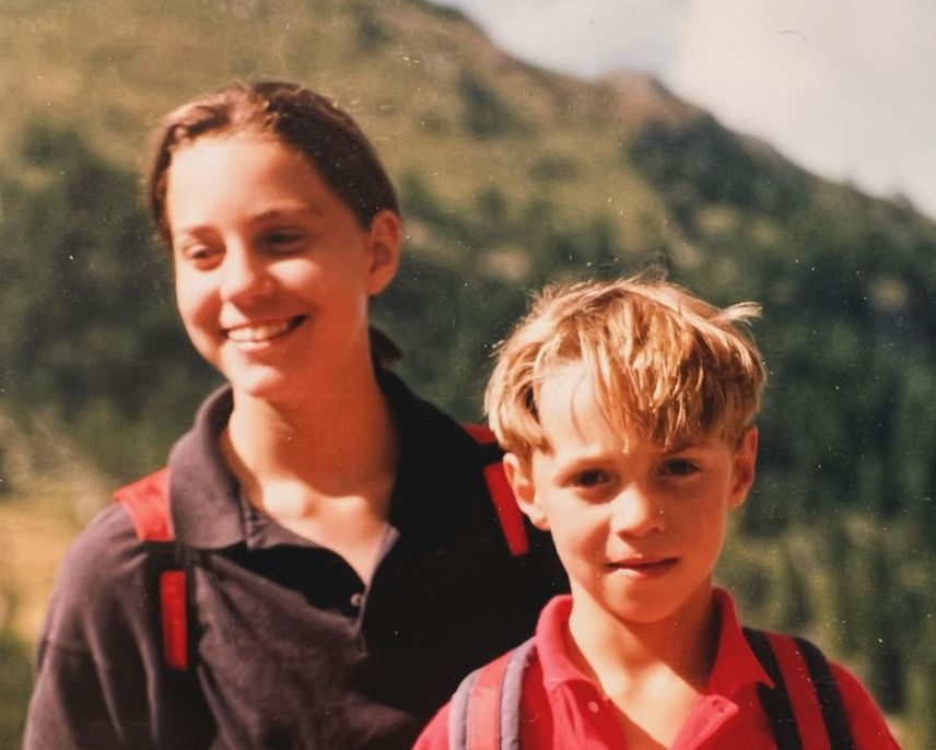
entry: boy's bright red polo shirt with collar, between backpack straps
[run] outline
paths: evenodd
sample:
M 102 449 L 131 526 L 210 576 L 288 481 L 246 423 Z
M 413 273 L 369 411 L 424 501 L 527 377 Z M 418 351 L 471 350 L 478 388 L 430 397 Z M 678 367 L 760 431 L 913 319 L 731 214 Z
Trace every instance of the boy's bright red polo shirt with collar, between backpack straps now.
M 718 652 L 712 675 L 670 750 L 774 750 L 757 685 L 773 685 L 748 646 L 730 596 L 715 590 L 721 611 Z M 623 750 L 624 736 L 610 700 L 572 663 L 563 633 L 572 598 L 552 599 L 536 630 L 536 657 L 524 675 L 523 750 L 588 748 Z M 785 640 L 773 641 L 782 647 Z M 870 695 L 846 669 L 832 665 L 845 704 L 856 750 L 899 750 Z M 809 694 L 795 690 L 787 678 L 789 700 L 804 750 L 828 750 L 819 707 Z M 433 718 L 414 750 L 447 750 L 448 705 Z M 818 741 L 816 738 L 823 738 Z

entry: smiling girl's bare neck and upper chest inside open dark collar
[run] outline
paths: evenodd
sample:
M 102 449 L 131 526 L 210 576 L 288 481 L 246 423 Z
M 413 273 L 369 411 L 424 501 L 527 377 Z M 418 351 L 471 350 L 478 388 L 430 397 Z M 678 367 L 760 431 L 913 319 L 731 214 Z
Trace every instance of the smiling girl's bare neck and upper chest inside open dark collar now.
M 286 403 L 235 394 L 221 450 L 250 505 L 341 555 L 366 585 L 396 476 L 389 405 L 370 367 Z

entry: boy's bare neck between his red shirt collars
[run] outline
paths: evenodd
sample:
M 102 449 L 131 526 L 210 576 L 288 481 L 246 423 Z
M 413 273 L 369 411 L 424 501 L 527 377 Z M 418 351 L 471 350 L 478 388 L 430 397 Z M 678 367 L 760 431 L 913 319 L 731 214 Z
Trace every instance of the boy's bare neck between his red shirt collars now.
M 642 685 L 657 682 L 660 676 L 700 692 L 712 671 L 717 635 L 714 590 L 709 583 L 678 612 L 647 623 L 623 622 L 583 591 L 573 593 L 566 645 L 576 666 L 613 701 L 639 695 Z

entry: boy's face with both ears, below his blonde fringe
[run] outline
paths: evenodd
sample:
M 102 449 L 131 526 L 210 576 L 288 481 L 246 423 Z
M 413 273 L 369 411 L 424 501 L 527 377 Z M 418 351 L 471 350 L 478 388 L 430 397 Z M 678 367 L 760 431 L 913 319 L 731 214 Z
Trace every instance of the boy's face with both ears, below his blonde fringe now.
M 539 418 L 551 449 L 528 466 L 508 454 L 507 476 L 551 531 L 576 609 L 637 625 L 707 606 L 728 513 L 753 480 L 757 431 L 740 446 L 706 438 L 672 452 L 616 434 L 582 363 L 547 376 Z

